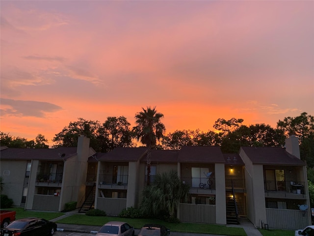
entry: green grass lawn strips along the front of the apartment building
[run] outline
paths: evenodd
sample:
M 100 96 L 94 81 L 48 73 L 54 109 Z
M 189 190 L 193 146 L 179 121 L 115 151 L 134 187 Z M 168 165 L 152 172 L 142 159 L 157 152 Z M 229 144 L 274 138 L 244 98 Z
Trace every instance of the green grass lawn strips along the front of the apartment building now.
M 9 208 L 16 211 L 16 218 L 39 217 L 47 220 L 54 219 L 64 213 L 61 212 L 44 212 L 24 210 L 23 208 Z M 140 229 L 144 224 L 156 223 L 162 224 L 174 232 L 188 232 L 200 234 L 216 234 L 229 236 L 247 236 L 242 228 L 226 227 L 223 225 L 211 224 L 192 224 L 192 223 L 168 223 L 156 219 L 129 219 L 110 216 L 87 216 L 83 214 L 74 214 L 64 219 L 58 220 L 56 223 L 62 224 L 78 224 L 78 225 L 95 225 L 102 226 L 108 221 L 125 221 L 132 225 L 135 229 Z M 263 236 L 294 236 L 291 230 L 260 230 Z

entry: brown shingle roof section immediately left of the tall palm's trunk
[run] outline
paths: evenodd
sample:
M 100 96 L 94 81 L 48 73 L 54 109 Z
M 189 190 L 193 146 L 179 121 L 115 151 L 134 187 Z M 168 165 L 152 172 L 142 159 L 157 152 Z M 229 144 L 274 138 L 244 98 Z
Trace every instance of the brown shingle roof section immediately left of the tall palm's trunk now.
M 147 151 L 147 148 L 114 148 L 108 153 L 98 153 L 99 161 L 137 161 Z

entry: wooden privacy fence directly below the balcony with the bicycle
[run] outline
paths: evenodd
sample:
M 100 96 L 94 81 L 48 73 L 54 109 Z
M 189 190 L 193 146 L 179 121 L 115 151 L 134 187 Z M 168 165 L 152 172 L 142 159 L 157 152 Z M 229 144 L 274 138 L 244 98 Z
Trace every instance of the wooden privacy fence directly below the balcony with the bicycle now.
M 180 204 L 180 220 L 190 223 L 216 223 L 216 205 Z

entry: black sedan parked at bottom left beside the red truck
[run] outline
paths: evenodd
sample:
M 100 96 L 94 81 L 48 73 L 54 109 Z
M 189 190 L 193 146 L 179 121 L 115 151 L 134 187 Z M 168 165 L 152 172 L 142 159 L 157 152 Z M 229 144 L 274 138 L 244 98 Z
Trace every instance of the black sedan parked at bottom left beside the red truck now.
M 57 224 L 42 218 L 25 218 L 13 221 L 4 229 L 1 236 L 47 236 L 53 235 Z

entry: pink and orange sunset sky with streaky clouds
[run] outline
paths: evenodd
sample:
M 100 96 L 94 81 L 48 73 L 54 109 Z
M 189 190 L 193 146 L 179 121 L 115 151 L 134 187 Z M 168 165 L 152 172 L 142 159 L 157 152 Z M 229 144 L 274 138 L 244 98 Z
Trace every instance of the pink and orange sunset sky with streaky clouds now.
M 314 115 L 314 1 L 0 1 L 0 131 L 142 107 L 166 133 Z

